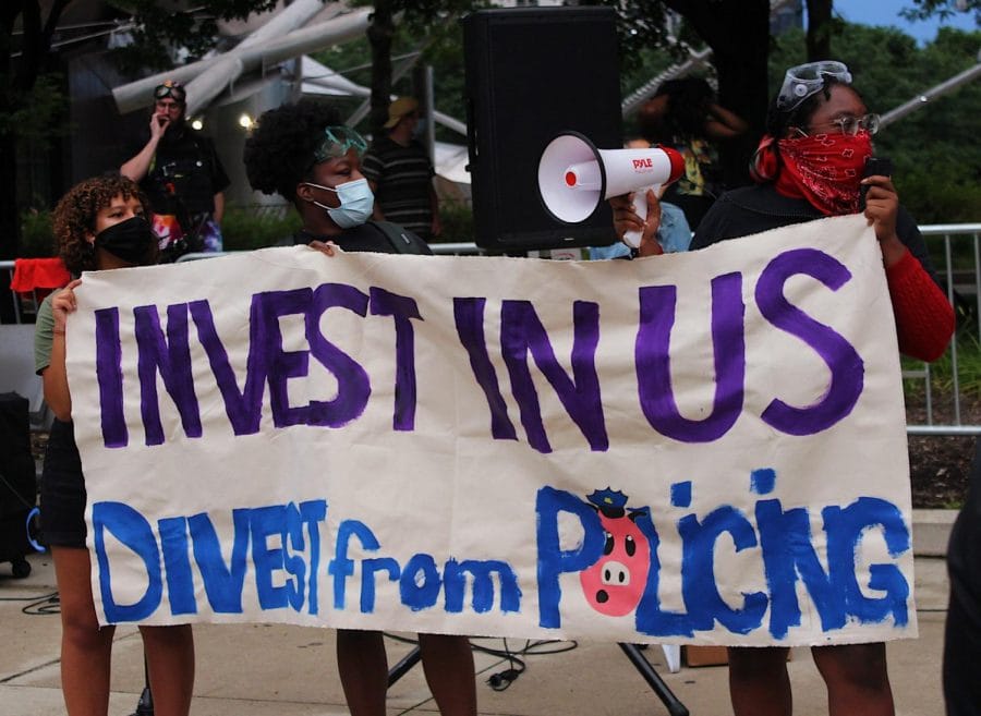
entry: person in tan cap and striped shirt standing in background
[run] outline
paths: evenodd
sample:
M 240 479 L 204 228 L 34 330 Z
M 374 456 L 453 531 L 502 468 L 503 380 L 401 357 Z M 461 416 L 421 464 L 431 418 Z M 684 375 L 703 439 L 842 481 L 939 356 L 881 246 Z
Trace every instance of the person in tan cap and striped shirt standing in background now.
M 441 231 L 439 198 L 429 155 L 415 138 L 420 126 L 419 102 L 396 99 L 388 106 L 388 134 L 372 144 L 361 170 L 375 193 L 374 219 L 398 223 L 429 241 Z

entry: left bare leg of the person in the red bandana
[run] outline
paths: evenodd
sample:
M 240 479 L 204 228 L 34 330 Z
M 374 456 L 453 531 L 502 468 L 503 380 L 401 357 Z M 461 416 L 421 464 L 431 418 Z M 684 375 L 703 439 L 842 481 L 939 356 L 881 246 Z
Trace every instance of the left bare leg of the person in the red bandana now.
M 736 716 L 790 716 L 794 699 L 788 651 L 783 646 L 729 647 L 729 696 Z

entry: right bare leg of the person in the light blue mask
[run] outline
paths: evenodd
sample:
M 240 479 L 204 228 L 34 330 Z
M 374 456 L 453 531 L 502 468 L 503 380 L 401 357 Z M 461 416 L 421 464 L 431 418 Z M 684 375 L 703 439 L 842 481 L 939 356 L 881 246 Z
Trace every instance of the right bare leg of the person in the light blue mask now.
M 465 636 L 420 634 L 426 683 L 443 716 L 476 716 L 473 652 Z

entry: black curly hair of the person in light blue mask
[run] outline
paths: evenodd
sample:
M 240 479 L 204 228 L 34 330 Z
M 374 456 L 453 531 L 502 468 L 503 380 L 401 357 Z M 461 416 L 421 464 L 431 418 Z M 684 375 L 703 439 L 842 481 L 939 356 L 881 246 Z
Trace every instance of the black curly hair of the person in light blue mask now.
M 308 174 L 324 128 L 341 124 L 337 109 L 315 99 L 270 109 L 245 141 L 243 160 L 252 187 L 296 202 L 296 184 Z

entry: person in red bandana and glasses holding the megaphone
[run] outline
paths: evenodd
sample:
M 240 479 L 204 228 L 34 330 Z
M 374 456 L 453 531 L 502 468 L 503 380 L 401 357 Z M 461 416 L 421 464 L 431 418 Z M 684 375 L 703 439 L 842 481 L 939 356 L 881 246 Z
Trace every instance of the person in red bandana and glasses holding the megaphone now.
M 899 350 L 933 361 L 944 353 L 954 333 L 954 311 L 938 286 L 917 224 L 899 206 L 891 179 L 862 178 L 877 126 L 877 116 L 869 113 L 843 63 L 790 68 L 770 107 L 767 134 L 751 167 L 756 185 L 724 194 L 695 230 L 691 248 L 862 211 L 882 252 Z M 863 187 L 868 193 L 861 208 Z M 651 193 L 647 198 L 649 206 L 656 203 Z M 618 235 L 631 229 L 644 231 L 643 255 L 656 226 L 644 224 L 629 196 L 614 197 L 610 204 Z M 897 478 L 908 480 L 909 475 Z M 736 716 L 789 716 L 788 650 L 730 647 L 728 652 Z M 827 687 L 832 716 L 895 713 L 885 644 L 814 646 L 811 653 Z

